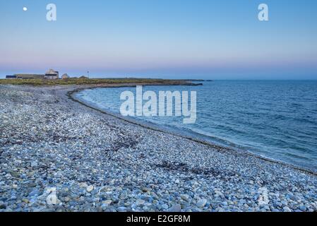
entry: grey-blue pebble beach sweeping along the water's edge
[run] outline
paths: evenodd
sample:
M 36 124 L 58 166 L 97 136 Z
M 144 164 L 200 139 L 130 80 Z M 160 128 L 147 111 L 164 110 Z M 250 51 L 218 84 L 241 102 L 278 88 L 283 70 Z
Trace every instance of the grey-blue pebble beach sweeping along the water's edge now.
M 0 85 L 0 212 L 317 210 L 315 174 L 103 114 L 78 88 Z

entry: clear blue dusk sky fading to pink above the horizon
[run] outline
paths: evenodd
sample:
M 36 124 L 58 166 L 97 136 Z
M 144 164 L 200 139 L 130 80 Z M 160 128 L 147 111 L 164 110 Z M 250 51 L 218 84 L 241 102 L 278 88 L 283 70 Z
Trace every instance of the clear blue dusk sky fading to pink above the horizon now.
M 0 0 L 0 17 L 0 78 L 317 79 L 316 0 Z

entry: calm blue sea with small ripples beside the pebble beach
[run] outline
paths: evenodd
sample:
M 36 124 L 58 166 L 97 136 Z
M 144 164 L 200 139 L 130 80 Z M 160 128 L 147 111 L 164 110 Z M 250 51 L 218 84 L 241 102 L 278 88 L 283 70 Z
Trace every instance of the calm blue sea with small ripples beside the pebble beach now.
M 97 88 L 76 95 L 119 113 L 124 90 L 136 92 L 136 88 Z M 140 120 L 317 171 L 317 81 L 213 81 L 143 90 L 196 90 L 197 121 L 183 124 L 182 117 Z

